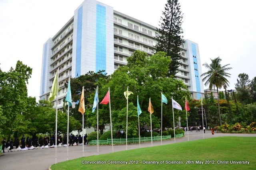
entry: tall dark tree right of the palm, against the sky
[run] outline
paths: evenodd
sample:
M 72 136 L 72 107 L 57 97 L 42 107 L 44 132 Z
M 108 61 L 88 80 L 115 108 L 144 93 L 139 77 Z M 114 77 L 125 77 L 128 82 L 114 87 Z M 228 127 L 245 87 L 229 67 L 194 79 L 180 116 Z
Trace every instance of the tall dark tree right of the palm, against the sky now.
M 236 94 L 237 94 L 237 99 L 239 102 L 244 103 L 244 104 L 250 104 L 251 99 L 250 99 L 250 94 L 249 94 L 249 76 L 248 74 L 241 73 L 238 74 L 237 83 L 236 83 Z

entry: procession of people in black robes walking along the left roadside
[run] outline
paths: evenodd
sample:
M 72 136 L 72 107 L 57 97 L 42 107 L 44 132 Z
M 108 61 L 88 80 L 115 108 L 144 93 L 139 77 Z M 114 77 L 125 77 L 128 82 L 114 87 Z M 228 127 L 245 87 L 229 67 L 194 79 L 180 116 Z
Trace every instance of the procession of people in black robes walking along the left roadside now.
M 20 150 L 32 150 L 32 149 L 44 149 L 44 148 L 54 148 L 54 147 L 67 147 L 69 146 L 76 146 L 76 145 L 83 145 L 83 140 L 81 135 L 74 135 L 70 134 L 69 141 L 67 143 L 67 135 L 62 138 L 62 136 L 57 136 L 57 145 L 56 145 L 56 137 L 55 135 L 52 135 L 52 137 L 27 137 L 25 138 L 22 136 L 22 138 L 19 140 L 18 137 L 13 141 L 13 139 L 8 139 L 6 141 L 6 138 L 2 141 L 2 152 L 5 152 L 4 149 L 6 149 L 8 152 L 12 152 L 14 147 L 16 148 L 15 151 Z M 84 145 L 88 145 L 87 141 L 87 134 L 84 135 Z

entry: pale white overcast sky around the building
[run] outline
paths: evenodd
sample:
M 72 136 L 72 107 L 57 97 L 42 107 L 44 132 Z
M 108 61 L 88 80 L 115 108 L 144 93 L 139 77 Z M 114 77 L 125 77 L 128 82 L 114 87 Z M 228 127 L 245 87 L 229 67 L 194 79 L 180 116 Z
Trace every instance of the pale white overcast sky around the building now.
M 0 0 L 0 68 L 18 60 L 33 68 L 28 96 L 39 99 L 43 44 L 74 16 L 84 0 Z M 114 10 L 158 27 L 167 0 L 98 0 Z M 220 57 L 230 64 L 228 79 L 256 76 L 256 2 L 253 0 L 180 0 L 183 38 L 198 43 L 201 63 Z M 206 69 L 202 67 L 202 72 Z M 205 87 L 206 89 L 207 87 Z

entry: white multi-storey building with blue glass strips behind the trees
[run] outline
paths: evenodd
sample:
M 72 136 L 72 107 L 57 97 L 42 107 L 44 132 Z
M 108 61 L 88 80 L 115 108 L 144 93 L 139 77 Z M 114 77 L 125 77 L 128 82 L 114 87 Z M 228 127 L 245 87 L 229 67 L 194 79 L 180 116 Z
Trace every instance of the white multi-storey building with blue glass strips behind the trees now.
M 112 74 L 119 66 L 127 64 L 127 57 L 135 50 L 152 55 L 156 35 L 156 27 L 148 23 L 117 12 L 106 4 L 85 0 L 74 16 L 44 44 L 40 100 L 48 100 L 57 69 L 58 108 L 61 108 L 67 92 L 64 82 L 68 77 L 98 70 Z M 185 40 L 181 49 L 182 64 L 176 77 L 183 80 L 192 97 L 198 99 L 204 93 L 198 44 Z

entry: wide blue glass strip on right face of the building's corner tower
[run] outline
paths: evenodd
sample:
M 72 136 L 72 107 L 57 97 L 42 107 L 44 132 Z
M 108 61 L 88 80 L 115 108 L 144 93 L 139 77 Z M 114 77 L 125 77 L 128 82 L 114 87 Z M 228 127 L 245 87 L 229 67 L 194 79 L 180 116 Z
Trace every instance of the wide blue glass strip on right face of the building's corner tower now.
M 106 72 L 106 7 L 96 7 L 96 72 Z

